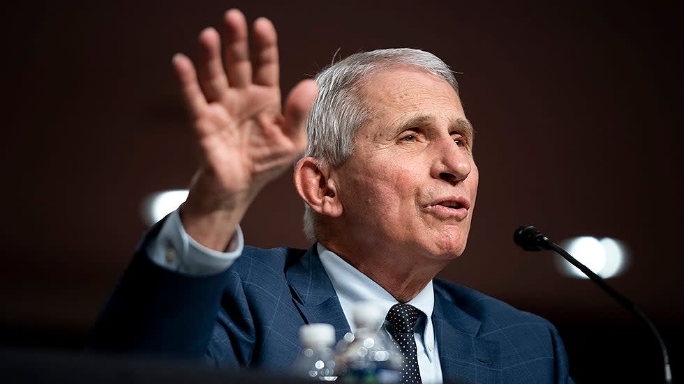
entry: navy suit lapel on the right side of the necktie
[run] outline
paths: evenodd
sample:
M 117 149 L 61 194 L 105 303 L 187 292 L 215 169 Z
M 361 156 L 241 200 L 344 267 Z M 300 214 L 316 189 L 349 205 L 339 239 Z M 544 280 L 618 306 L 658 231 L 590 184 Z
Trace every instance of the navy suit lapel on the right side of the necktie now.
M 459 384 L 501 383 L 498 343 L 477 337 L 482 322 L 437 289 L 433 325 L 445 379 Z

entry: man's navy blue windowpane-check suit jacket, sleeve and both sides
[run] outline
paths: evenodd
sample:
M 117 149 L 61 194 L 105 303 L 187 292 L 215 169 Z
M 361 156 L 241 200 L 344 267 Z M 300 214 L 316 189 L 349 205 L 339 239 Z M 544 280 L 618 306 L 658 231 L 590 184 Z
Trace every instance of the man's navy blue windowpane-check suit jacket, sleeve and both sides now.
M 138 248 L 93 332 L 91 349 L 209 358 L 218 367 L 284 371 L 299 327 L 350 331 L 332 283 L 308 250 L 245 247 L 225 272 L 191 277 L 156 266 Z M 549 321 L 487 295 L 434 281 L 433 323 L 445 379 L 458 383 L 572 383 Z

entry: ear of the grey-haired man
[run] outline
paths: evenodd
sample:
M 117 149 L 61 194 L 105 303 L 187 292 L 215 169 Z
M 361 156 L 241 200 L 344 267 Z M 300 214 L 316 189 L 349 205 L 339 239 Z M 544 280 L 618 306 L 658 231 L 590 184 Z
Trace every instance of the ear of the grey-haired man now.
M 331 217 L 342 215 L 342 202 L 330 178 L 330 167 L 320 166 L 315 158 L 307 156 L 297 162 L 295 187 L 302 200 L 316 213 Z

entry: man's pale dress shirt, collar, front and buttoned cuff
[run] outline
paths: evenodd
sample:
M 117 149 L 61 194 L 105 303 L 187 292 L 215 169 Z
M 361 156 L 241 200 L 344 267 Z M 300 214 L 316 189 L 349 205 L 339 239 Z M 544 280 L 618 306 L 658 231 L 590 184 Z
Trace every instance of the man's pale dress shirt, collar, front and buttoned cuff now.
M 159 235 L 149 245 L 151 261 L 162 268 L 187 275 L 206 276 L 215 275 L 227 270 L 240 256 L 244 249 L 244 236 L 237 227 L 235 236 L 230 240 L 227 252 L 209 249 L 186 233 L 180 220 L 178 210 L 167 217 Z M 355 332 L 352 309 L 356 302 L 372 301 L 387 314 L 389 308 L 398 301 L 385 291 L 382 286 L 370 277 L 359 272 L 344 261 L 340 256 L 318 244 L 320 261 L 337 293 L 347 322 L 352 332 Z M 432 281 L 408 302 L 419 309 L 425 316 L 420 316 L 414 334 L 420 377 L 424 384 L 443 383 L 442 367 L 435 339 L 432 323 L 432 312 L 435 303 L 435 292 Z

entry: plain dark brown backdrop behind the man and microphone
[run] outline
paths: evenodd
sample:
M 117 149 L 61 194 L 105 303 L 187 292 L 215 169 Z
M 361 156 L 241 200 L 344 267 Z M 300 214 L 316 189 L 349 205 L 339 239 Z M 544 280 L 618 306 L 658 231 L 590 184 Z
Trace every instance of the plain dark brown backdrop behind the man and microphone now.
M 661 330 L 681 376 L 684 319 L 681 13 L 674 3 L 33 1 L 6 7 L 1 105 L 0 346 L 78 351 L 146 226 L 140 203 L 186 187 L 192 135 L 170 67 L 224 10 L 267 16 L 282 85 L 342 56 L 415 47 L 458 72 L 481 182 L 466 253 L 440 277 L 549 318 L 578 383 L 658 382 L 657 344 L 548 252 L 610 236 L 630 268 L 610 283 Z M 262 192 L 246 242 L 306 247 L 290 174 Z

